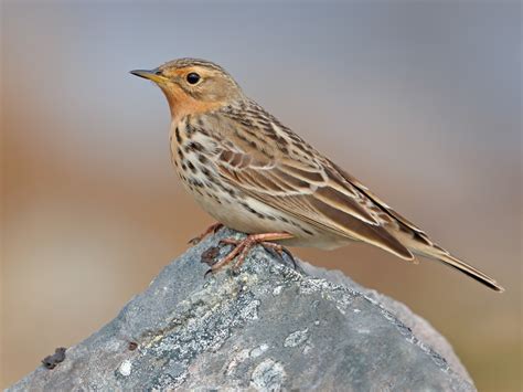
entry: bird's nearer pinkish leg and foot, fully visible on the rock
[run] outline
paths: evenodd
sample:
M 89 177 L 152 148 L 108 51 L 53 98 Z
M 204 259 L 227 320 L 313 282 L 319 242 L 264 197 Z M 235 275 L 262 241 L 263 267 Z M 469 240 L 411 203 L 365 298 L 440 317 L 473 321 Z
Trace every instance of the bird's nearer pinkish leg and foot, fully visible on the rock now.
M 288 240 L 292 237 L 293 235 L 289 233 L 264 233 L 264 234 L 250 234 L 250 235 L 247 235 L 243 240 L 234 240 L 234 239 L 222 240 L 220 241 L 221 243 L 227 244 L 227 245 L 235 245 L 235 247 L 224 258 L 215 263 L 211 267 L 210 272 L 211 273 L 216 272 L 224 265 L 227 265 L 228 263 L 231 263 L 237 256 L 237 259 L 233 266 L 233 272 L 237 273 L 239 267 L 244 263 L 245 257 L 247 256 L 248 252 L 250 251 L 253 246 L 260 244 L 264 247 L 280 248 L 281 252 L 285 252 L 282 246 L 278 244 L 274 244 L 270 241 Z

